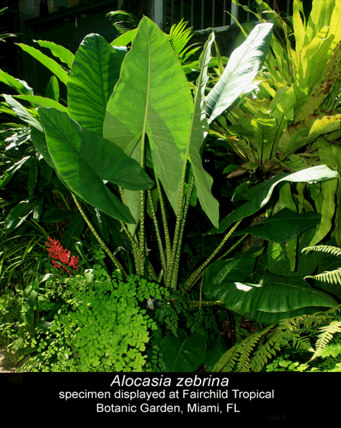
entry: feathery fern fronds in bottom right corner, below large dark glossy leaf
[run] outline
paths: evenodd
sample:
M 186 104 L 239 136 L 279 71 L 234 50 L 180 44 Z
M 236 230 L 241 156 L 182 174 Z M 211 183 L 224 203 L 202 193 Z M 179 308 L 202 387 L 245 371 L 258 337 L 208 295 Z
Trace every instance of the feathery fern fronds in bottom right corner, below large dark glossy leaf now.
M 306 364 L 303 364 L 304 369 L 306 369 L 308 362 L 315 360 L 322 354 L 326 345 L 333 338 L 333 334 L 341 333 L 340 311 L 341 305 L 326 312 L 301 315 L 284 319 L 278 325 L 272 324 L 232 346 L 222 355 L 212 371 L 264 371 L 268 360 L 272 360 L 276 353 L 284 350 L 284 348 L 292 349 L 293 353 L 313 353 L 311 360 L 307 358 Z M 326 322 L 329 325 L 320 328 Z M 319 335 L 320 331 L 322 333 Z M 317 337 L 315 350 L 311 345 L 311 339 L 314 337 Z

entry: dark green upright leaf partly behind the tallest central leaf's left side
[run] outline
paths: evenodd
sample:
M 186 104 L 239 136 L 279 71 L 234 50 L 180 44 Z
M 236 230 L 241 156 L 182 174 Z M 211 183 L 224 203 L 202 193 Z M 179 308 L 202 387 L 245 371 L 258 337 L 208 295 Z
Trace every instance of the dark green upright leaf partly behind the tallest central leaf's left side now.
M 120 77 L 126 48 L 110 46 L 98 34 L 84 37 L 68 81 L 68 113 L 82 127 L 103 136 L 104 113 Z

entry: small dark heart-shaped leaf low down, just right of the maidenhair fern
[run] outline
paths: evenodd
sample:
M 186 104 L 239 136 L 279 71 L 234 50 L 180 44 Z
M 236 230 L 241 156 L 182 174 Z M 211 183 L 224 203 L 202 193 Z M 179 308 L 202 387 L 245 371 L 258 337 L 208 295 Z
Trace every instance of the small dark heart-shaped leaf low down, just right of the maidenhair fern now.
M 160 342 L 160 348 L 168 372 L 192 372 L 203 363 L 207 343 L 205 337 L 198 333 L 187 336 L 185 340 L 167 335 Z

